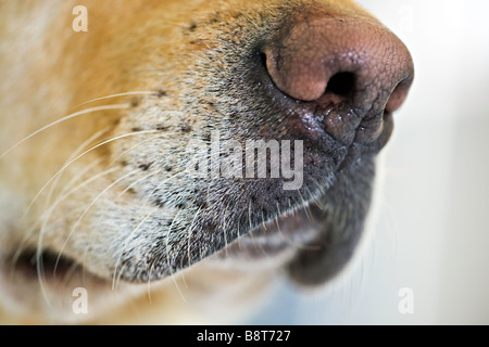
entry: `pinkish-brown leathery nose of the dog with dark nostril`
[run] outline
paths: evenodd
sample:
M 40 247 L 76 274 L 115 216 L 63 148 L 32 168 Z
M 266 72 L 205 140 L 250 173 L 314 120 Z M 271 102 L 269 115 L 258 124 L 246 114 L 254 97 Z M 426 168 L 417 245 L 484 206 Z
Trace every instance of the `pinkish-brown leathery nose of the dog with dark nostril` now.
M 276 88 L 299 101 L 298 107 L 314 103 L 323 114 L 339 110 L 346 115 L 329 119 L 336 123 L 331 129 L 337 138 L 362 121 L 346 119 L 347 115 L 381 119 L 398 110 L 414 76 L 405 46 L 367 17 L 302 14 L 287 21 L 263 53 Z

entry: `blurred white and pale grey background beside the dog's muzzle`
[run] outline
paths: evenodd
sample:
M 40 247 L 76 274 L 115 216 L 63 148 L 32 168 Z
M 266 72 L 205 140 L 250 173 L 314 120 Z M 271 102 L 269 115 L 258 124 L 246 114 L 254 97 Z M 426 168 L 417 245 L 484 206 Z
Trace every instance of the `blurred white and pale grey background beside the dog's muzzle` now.
M 358 2 L 416 67 L 371 237 L 341 281 L 305 295 L 284 281 L 250 323 L 489 324 L 489 2 Z

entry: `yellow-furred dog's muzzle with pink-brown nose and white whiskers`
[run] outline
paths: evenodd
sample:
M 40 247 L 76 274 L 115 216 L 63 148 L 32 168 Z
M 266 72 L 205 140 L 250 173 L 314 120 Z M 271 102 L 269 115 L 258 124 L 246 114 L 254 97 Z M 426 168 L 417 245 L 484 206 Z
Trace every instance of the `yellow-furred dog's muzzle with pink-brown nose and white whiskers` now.
M 239 320 L 355 254 L 414 78 L 349 0 L 2 1 L 0 322 Z

